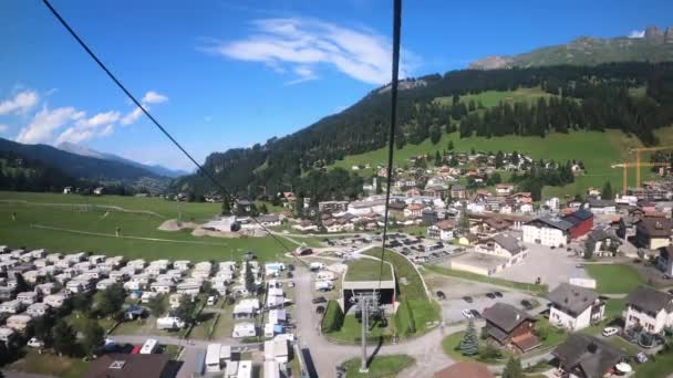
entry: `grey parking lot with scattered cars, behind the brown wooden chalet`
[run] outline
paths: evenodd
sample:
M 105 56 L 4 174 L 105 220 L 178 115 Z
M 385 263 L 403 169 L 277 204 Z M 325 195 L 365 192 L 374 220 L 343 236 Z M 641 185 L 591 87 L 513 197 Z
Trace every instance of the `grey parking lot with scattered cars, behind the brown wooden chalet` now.
M 436 297 L 437 291 L 444 292 L 446 300 L 441 300 L 442 316 L 446 324 L 463 322 L 466 318 L 463 316 L 464 309 L 476 309 L 483 313 L 485 308 L 493 306 L 496 302 L 507 303 L 517 308 L 526 309 L 521 304 L 521 301 L 530 302 L 537 312 L 546 308 L 547 301 L 534 297 L 529 294 L 504 290 L 498 286 L 479 283 L 479 282 L 466 282 L 458 279 L 446 277 L 436 274 L 429 274 L 425 277 L 425 281 Z M 487 293 L 499 292 L 503 294 L 501 297 L 489 298 L 486 296 Z M 467 303 L 463 297 L 469 296 L 473 302 Z M 541 306 L 541 307 L 540 307 Z M 536 315 L 536 313 L 530 313 Z

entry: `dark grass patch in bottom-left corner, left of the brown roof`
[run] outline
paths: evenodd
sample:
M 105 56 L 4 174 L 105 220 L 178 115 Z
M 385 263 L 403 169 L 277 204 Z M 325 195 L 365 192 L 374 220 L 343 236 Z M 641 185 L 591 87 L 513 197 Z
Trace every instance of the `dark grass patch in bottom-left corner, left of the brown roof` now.
M 40 355 L 31 349 L 23 358 L 11 364 L 7 369 L 61 378 L 80 378 L 84 376 L 87 367 L 89 363 L 81 358 L 59 357 L 50 353 Z

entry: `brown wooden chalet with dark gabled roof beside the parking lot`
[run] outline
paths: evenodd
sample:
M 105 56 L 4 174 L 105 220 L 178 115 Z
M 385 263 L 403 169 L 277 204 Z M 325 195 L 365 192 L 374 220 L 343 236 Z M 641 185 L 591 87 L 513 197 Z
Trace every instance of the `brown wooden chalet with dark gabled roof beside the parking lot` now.
M 534 335 L 536 319 L 509 304 L 496 303 L 484 309 L 484 332 L 503 347 L 525 353 L 540 345 Z

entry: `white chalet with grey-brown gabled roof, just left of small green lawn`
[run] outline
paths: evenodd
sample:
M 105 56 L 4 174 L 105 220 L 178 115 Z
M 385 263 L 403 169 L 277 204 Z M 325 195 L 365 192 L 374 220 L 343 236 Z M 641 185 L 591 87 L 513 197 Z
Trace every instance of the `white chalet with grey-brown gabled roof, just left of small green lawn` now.
M 600 322 L 605 312 L 605 303 L 594 291 L 568 283 L 558 285 L 547 298 L 551 303 L 549 323 L 571 332 Z

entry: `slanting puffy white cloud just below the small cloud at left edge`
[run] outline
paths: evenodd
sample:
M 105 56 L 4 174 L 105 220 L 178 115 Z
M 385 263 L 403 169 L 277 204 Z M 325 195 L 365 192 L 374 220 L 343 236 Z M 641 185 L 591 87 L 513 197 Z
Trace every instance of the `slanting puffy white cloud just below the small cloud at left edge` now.
M 50 143 L 53 140 L 53 133 L 56 129 L 82 117 L 84 117 L 84 112 L 77 112 L 72 106 L 58 107 L 53 111 L 44 106 L 34 115 L 33 120 L 28 126 L 21 128 L 17 141 L 28 144 Z

